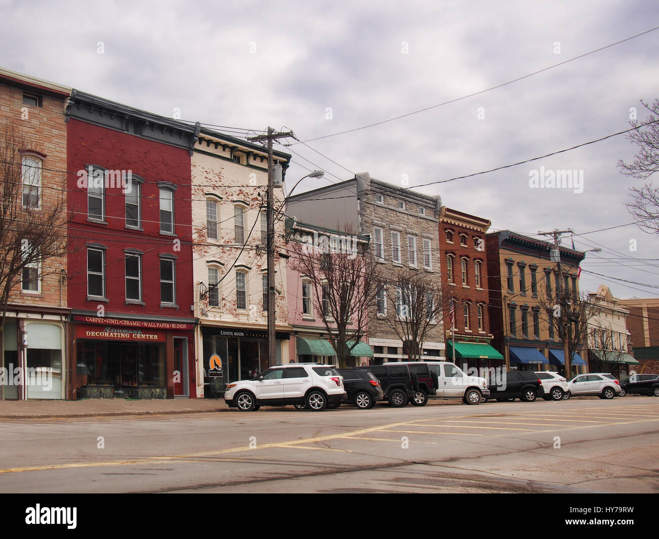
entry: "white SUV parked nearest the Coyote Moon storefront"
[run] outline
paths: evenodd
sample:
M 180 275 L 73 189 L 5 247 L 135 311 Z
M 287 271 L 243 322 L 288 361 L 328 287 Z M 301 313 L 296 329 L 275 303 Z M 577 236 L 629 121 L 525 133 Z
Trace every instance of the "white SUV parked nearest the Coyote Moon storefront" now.
M 343 376 L 333 365 L 288 363 L 264 371 L 252 380 L 227 384 L 224 400 L 229 408 L 250 412 L 264 406 L 305 405 L 322 411 L 347 398 Z

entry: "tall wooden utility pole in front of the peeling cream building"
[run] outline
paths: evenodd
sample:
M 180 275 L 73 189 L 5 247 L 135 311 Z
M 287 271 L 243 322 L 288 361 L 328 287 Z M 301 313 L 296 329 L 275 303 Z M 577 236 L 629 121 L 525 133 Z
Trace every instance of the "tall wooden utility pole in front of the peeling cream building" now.
M 268 127 L 268 134 L 250 137 L 253 142 L 268 141 L 268 198 L 266 200 L 266 213 L 268 217 L 268 360 L 274 365 L 277 359 L 275 353 L 275 211 L 274 211 L 274 177 L 272 141 L 278 138 L 292 137 L 293 133 L 275 133 Z

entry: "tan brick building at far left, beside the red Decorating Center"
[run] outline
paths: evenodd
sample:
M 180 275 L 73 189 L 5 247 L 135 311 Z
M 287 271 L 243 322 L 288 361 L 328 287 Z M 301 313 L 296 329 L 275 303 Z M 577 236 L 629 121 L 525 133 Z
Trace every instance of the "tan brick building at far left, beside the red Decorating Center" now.
M 47 208 L 64 195 L 69 95 L 71 88 L 0 69 L 0 122 L 11 122 L 26 141 L 21 149 L 23 195 L 16 201 L 23 208 Z M 23 270 L 3 331 L 3 398 L 65 398 L 68 313 L 66 257 Z M 18 372 L 22 376 L 16 377 Z

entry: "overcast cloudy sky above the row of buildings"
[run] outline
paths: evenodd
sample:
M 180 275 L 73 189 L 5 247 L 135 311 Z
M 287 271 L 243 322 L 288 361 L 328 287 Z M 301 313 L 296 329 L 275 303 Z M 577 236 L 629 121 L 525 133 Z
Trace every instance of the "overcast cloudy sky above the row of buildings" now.
M 326 170 L 300 192 L 368 171 L 441 182 L 418 190 L 492 230 L 572 228 L 578 249 L 603 249 L 582 264 L 582 290 L 654 297 L 659 237 L 629 224 L 627 188 L 640 181 L 617 168 L 637 151 L 625 136 L 442 180 L 623 131 L 633 107 L 645 118 L 639 100 L 659 99 L 659 30 L 465 96 L 655 26 L 659 5 L 644 0 L 0 0 L 0 66 L 227 133 L 293 130 L 306 142 L 287 149 L 289 182 Z M 583 185 L 531 188 L 534 170 L 577 170 Z

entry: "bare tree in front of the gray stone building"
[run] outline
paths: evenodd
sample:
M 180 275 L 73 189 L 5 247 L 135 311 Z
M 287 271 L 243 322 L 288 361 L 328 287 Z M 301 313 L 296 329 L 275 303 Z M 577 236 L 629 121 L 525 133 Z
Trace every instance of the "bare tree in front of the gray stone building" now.
M 426 335 L 448 311 L 451 293 L 447 285 L 440 284 L 436 274 L 401 268 L 387 274 L 379 288 L 388 290 L 386 319 L 403 342 L 403 353 L 409 361 L 421 359 Z

